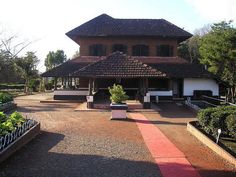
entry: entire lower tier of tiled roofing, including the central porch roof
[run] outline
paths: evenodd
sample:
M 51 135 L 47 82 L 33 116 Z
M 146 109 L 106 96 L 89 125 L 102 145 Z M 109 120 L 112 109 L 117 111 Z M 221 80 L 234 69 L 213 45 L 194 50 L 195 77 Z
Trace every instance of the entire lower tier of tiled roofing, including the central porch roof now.
M 179 57 L 127 57 L 125 55 L 95 57 L 95 56 L 80 56 L 73 60 L 69 60 L 49 71 L 46 71 L 42 77 L 66 77 L 79 75 L 85 77 L 94 77 L 99 74 L 101 77 L 113 76 L 119 72 L 122 77 L 134 77 L 139 73 L 139 76 L 148 74 L 149 76 L 156 75 L 160 77 L 160 72 L 165 73 L 166 77 L 175 78 L 213 78 L 213 76 L 204 69 L 203 66 L 188 63 L 186 60 Z M 127 65 L 127 62 L 131 65 Z M 94 63 L 94 64 L 92 64 Z M 101 67 L 102 63 L 102 67 Z M 145 64 L 143 64 L 145 63 Z M 140 68 L 141 65 L 141 68 Z M 87 68 L 87 69 L 86 69 Z M 150 71 L 151 70 L 151 71 Z M 76 74 L 77 72 L 77 74 Z M 102 74 L 101 73 L 105 73 Z M 141 73 L 142 72 L 142 73 Z M 154 73 L 154 74 L 153 74 Z M 161 75 L 162 76 L 162 75 Z

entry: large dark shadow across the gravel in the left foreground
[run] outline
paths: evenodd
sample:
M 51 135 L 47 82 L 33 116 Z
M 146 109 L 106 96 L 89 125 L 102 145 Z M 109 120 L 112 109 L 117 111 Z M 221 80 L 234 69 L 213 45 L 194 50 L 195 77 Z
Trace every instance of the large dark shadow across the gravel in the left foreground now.
M 50 152 L 63 139 L 62 134 L 43 132 L 0 165 L 0 177 L 160 176 L 156 164 L 151 162 Z

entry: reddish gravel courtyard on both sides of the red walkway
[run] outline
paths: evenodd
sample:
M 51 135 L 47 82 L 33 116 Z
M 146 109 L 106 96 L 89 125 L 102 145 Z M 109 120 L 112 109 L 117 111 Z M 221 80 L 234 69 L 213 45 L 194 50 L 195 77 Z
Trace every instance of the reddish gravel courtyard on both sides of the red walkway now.
M 52 95 L 16 98 L 18 111 L 41 123 L 41 134 L 0 164 L 0 177 L 161 177 L 136 123 L 110 112 L 78 112 L 78 103 L 40 103 Z M 186 131 L 195 114 L 175 103 L 143 112 L 202 177 L 234 177 L 235 168 Z

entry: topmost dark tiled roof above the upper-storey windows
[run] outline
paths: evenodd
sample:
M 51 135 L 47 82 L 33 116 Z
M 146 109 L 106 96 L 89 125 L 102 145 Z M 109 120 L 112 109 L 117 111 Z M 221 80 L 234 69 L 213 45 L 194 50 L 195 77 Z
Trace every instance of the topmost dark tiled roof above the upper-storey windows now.
M 177 38 L 192 36 L 164 19 L 116 19 L 102 14 L 66 33 L 72 40 L 95 36 L 155 36 Z

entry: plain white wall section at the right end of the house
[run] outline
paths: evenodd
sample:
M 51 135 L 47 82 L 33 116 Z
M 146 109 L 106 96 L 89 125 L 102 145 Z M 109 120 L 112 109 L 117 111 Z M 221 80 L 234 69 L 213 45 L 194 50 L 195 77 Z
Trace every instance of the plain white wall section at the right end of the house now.
M 211 90 L 213 96 L 219 96 L 219 85 L 213 79 L 184 79 L 184 96 L 193 96 L 194 90 Z

